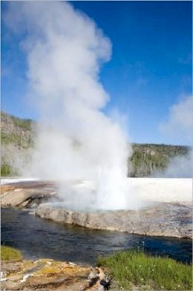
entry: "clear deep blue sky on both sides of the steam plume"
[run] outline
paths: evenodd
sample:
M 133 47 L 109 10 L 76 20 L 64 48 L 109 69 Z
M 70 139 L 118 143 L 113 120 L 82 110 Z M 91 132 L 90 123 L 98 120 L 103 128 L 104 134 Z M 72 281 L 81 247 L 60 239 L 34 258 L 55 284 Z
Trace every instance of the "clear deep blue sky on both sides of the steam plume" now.
M 164 135 L 160 123 L 182 96 L 192 94 L 191 2 L 71 2 L 111 39 L 112 58 L 100 80 L 114 107 L 128 116 L 133 142 L 186 144 Z M 6 10 L 2 3 L 2 14 Z M 21 39 L 2 23 L 2 110 L 37 118 L 26 100 L 26 60 Z

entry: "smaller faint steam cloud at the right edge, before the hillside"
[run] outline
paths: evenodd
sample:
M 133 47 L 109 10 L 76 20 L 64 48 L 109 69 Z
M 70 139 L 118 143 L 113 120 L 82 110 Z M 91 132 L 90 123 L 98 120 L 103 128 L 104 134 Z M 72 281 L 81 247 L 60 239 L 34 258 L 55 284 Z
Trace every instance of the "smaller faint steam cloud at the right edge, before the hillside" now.
M 166 123 L 160 126 L 162 132 L 185 137 L 193 144 L 193 96 L 187 96 L 181 102 L 174 104 L 169 110 Z M 157 176 L 160 173 L 157 173 Z M 192 178 L 193 149 L 186 156 L 171 159 L 163 177 Z

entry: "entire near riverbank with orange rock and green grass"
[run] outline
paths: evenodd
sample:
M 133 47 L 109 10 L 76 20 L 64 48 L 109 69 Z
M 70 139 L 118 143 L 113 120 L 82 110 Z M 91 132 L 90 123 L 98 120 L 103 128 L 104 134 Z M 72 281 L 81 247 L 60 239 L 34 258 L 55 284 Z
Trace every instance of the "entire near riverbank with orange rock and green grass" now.
M 51 259 L 25 260 L 1 248 L 2 290 L 191 290 L 192 266 L 127 250 L 98 257 L 94 267 Z

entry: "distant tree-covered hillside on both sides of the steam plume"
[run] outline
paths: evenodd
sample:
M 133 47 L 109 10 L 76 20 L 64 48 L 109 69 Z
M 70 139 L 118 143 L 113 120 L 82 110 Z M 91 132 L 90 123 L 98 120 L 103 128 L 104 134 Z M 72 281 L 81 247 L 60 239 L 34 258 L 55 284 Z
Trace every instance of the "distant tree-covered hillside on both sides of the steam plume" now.
M 30 157 L 35 141 L 36 124 L 31 119 L 20 119 L 1 112 L 2 175 L 16 175 L 17 159 Z M 128 176 L 145 177 L 155 171 L 164 171 L 170 159 L 187 155 L 187 146 L 132 144 L 133 154 L 128 158 Z

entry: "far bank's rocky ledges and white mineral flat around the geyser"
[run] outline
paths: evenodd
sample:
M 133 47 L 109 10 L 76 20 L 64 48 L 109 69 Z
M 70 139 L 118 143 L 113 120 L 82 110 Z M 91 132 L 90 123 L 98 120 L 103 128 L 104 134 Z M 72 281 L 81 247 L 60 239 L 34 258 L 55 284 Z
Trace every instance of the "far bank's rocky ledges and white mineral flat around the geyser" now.
M 82 187 L 82 184 L 84 183 L 68 181 L 71 188 L 74 185 L 75 187 L 79 187 L 79 185 Z M 85 183 L 84 187 L 88 187 L 88 185 L 89 183 Z M 52 203 L 51 206 L 50 203 L 41 204 L 45 200 L 53 202 L 54 199 L 55 201 L 57 199 L 56 185 L 48 181 L 25 181 L 3 185 L 2 205 L 21 207 L 28 207 L 29 205 L 31 207 L 33 205 L 34 207 L 35 200 L 35 206 L 41 204 L 35 211 L 36 215 L 62 223 L 135 234 L 179 238 L 192 237 L 191 179 L 136 178 L 128 179 L 128 186 L 130 188 L 128 195 L 135 195 L 136 188 L 138 188 L 138 199 L 144 200 L 146 205 L 149 205 L 147 208 L 102 212 L 75 211 L 72 210 L 74 208 L 69 210 L 65 206 L 63 209 L 61 205 L 68 205 L 65 201 L 65 193 L 59 207 L 52 207 Z M 133 192 L 131 192 L 131 186 Z M 141 190 L 139 190 L 140 187 Z M 159 195 L 158 188 L 162 195 Z M 83 190 L 81 189 L 81 191 Z M 166 190 L 171 192 L 170 196 L 170 192 Z M 176 196 L 174 197 L 173 194 Z

